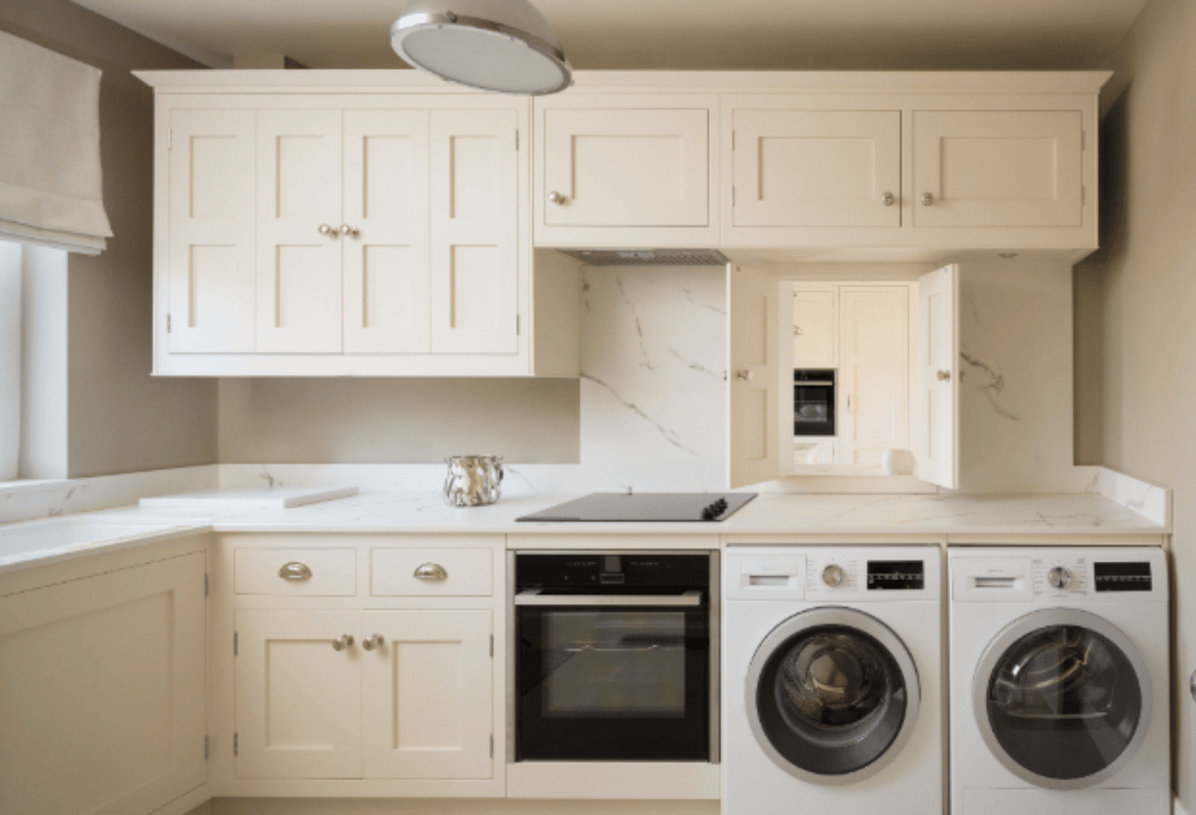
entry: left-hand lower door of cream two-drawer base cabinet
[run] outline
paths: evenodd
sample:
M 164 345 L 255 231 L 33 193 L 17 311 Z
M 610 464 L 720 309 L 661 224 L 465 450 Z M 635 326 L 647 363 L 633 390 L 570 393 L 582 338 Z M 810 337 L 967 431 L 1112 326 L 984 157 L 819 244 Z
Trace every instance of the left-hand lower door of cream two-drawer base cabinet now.
M 237 777 L 361 778 L 361 613 L 239 609 Z M 353 645 L 337 651 L 343 635 Z

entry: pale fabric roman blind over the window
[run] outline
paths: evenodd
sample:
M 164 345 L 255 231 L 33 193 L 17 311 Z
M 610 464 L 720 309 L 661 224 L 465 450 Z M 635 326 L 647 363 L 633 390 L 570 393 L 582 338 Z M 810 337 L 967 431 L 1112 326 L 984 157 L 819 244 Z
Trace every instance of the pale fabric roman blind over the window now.
M 0 31 L 0 240 L 98 255 L 100 72 Z

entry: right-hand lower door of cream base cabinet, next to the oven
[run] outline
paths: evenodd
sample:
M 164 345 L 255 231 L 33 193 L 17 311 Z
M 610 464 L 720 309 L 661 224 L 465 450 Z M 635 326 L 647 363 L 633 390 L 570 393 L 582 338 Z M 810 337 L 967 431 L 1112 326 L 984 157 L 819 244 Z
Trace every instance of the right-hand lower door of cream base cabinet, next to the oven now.
M 368 778 L 492 778 L 489 611 L 365 612 Z

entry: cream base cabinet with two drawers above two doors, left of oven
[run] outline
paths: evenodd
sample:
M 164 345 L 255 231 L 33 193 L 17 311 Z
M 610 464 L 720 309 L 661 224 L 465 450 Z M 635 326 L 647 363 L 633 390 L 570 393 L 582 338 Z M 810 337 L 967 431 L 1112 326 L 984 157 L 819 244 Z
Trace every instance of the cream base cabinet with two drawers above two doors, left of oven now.
M 501 797 L 504 544 L 226 535 L 218 793 Z

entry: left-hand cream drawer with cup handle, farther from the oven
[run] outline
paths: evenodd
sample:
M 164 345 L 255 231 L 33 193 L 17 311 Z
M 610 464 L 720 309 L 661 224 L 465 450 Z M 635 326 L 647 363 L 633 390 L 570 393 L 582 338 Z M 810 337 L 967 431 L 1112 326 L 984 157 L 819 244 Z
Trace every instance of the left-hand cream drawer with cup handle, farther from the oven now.
M 352 549 L 238 549 L 234 569 L 237 594 L 353 596 L 358 593 L 358 558 Z

